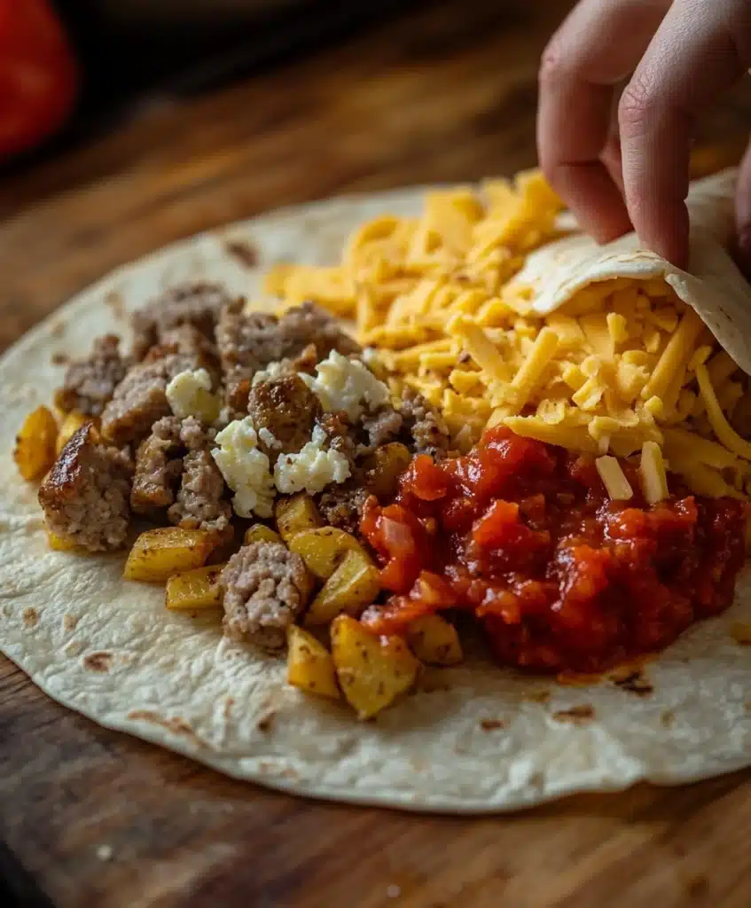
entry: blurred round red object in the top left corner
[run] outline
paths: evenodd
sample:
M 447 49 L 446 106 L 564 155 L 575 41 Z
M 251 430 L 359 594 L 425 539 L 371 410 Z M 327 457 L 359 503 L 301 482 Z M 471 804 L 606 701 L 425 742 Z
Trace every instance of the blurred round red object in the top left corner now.
M 54 133 L 77 86 L 73 51 L 47 0 L 0 0 L 0 159 Z

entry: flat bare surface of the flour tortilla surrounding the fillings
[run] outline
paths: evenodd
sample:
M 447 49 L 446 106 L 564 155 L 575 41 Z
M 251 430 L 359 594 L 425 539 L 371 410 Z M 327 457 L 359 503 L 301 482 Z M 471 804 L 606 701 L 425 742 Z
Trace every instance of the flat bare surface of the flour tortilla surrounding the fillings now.
M 690 782 L 751 763 L 751 582 L 725 616 L 693 627 L 647 665 L 652 693 L 602 680 L 559 686 L 482 654 L 431 671 L 369 723 L 284 683 L 283 660 L 163 608 L 163 589 L 121 579 L 122 556 L 47 548 L 35 487 L 11 461 L 25 414 L 51 399 L 55 352 L 123 333 L 133 310 L 176 281 L 224 281 L 256 297 L 282 260 L 330 263 L 363 220 L 420 211 L 421 190 L 322 202 L 203 234 L 115 271 L 0 360 L 0 649 L 49 696 L 240 779 L 300 795 L 482 814 L 647 779 Z M 706 222 L 713 222 L 716 204 Z M 711 215 L 711 216 L 710 216 Z M 249 270 L 228 239 L 252 244 Z M 645 682 L 641 682 L 645 686 Z M 573 712 L 572 712 L 573 711 Z

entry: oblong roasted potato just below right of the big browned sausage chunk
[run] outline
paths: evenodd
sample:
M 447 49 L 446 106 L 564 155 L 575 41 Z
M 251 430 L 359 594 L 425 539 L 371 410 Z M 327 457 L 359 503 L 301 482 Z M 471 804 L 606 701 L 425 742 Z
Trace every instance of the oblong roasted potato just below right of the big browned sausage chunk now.
M 203 567 L 218 541 L 214 533 L 203 529 L 148 529 L 133 543 L 123 577 L 126 580 L 162 583 L 173 574 Z

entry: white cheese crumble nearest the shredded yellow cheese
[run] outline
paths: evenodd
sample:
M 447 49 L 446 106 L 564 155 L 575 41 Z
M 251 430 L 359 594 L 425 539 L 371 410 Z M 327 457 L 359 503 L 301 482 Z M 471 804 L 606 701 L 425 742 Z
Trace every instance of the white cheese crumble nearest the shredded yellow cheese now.
M 327 413 L 344 410 L 354 420 L 361 415 L 363 404 L 368 410 L 376 410 L 389 400 L 389 389 L 361 360 L 350 360 L 331 350 L 315 368 L 315 378 L 305 372 L 298 374 Z

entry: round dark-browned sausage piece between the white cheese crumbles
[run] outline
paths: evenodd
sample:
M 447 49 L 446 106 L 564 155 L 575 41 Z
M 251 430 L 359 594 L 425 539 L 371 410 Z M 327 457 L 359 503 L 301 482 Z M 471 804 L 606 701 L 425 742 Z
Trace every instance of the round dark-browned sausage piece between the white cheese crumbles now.
M 321 403 L 303 380 L 294 373 L 254 384 L 248 397 L 248 413 L 256 431 L 268 429 L 279 442 L 264 452 L 275 460 L 279 454 L 295 454 L 311 440 Z

